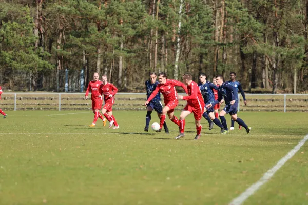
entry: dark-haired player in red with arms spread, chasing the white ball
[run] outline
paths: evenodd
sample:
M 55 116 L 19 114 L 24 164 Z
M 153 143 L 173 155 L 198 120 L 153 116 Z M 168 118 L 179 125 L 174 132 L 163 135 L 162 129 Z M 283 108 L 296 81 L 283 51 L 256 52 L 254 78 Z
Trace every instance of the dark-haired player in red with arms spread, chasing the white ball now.
M 160 129 L 158 132 L 162 131 L 163 124 L 166 119 L 166 114 L 169 116 L 172 122 L 179 126 L 179 120 L 176 116 L 174 116 L 174 109 L 177 107 L 179 100 L 178 94 L 175 86 L 181 86 L 185 92 L 187 93 L 187 87 L 185 84 L 178 80 L 167 79 L 167 75 L 164 72 L 158 74 L 159 84 L 156 86 L 156 89 L 152 92 L 150 97 L 145 102 L 145 106 L 149 104 L 149 102 L 156 96 L 158 92 L 161 92 L 164 96 L 165 107 L 163 108 L 161 120 L 160 120 Z

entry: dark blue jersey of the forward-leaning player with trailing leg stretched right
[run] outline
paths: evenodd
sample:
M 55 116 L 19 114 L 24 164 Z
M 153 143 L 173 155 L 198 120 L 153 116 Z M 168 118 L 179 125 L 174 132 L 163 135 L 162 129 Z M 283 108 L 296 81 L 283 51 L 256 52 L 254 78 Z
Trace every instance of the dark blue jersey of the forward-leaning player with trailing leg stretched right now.
M 232 100 L 236 100 L 236 88 L 227 82 L 224 82 L 221 86 L 218 87 L 217 93 L 218 99 L 214 104 L 212 104 L 212 106 L 218 104 L 222 100 L 222 97 L 224 98 L 226 104 L 230 103 Z

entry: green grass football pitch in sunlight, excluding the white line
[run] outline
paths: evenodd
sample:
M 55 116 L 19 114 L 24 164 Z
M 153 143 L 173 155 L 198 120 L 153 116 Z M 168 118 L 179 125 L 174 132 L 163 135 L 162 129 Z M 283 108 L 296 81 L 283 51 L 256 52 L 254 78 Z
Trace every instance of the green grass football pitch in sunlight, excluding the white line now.
M 240 112 L 251 127 L 219 135 L 192 116 L 186 136 L 145 133 L 145 112 L 8 111 L 0 119 L 0 204 L 228 204 L 308 134 L 306 113 Z M 176 113 L 179 116 L 179 112 Z M 229 123 L 229 117 L 226 117 Z M 151 122 L 158 122 L 156 113 Z M 244 204 L 308 204 L 308 142 Z

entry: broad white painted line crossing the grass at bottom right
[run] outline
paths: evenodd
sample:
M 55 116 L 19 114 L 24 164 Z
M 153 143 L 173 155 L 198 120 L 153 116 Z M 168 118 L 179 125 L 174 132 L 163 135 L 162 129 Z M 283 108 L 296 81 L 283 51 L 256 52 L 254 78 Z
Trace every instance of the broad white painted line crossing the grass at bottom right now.
M 250 186 L 248 189 L 246 189 L 241 195 L 234 198 L 229 205 L 240 205 L 245 202 L 245 200 L 253 195 L 264 183 L 266 183 L 269 179 L 274 176 L 274 174 L 287 162 L 287 160 L 291 159 L 295 153 L 305 144 L 305 142 L 308 140 L 308 134 L 290 151 L 288 152 L 284 157 L 282 157 L 276 165 L 268 170 L 256 183 L 254 183 L 252 186 Z

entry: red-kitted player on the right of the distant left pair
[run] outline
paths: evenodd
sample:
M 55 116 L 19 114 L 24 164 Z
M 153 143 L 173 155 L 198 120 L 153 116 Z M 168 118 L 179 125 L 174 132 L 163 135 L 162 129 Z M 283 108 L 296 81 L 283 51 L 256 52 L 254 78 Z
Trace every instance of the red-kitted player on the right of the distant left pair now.
M 114 116 L 112 115 L 112 105 L 114 104 L 114 95 L 118 92 L 118 88 L 113 84 L 107 82 L 107 75 L 102 76 L 103 83 L 100 86 L 100 93 L 104 95 L 105 105 L 102 109 L 102 114 L 109 121 L 109 128 L 119 129 L 117 121 L 115 121 Z

